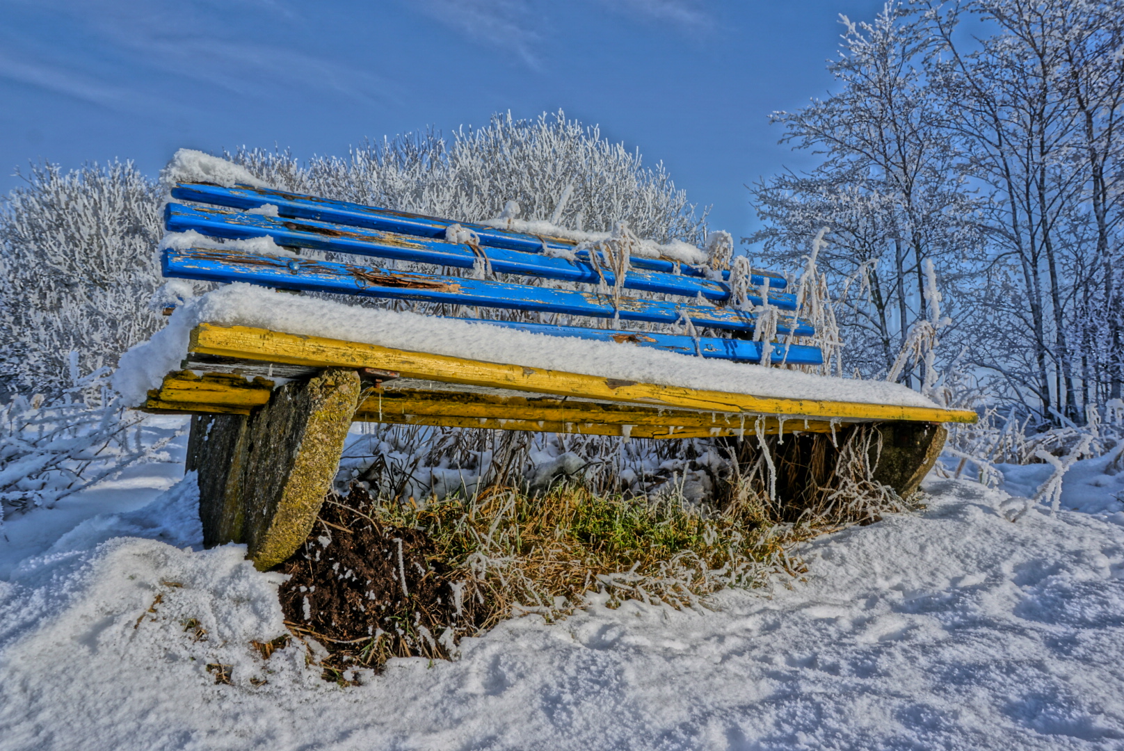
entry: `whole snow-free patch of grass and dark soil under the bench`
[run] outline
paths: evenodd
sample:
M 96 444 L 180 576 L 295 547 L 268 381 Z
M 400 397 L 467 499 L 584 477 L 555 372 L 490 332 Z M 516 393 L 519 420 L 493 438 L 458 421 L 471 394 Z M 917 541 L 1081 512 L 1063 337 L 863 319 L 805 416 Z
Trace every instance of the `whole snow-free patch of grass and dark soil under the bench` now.
M 324 569 L 302 582 L 319 594 L 311 609 L 301 609 L 302 596 L 287 607 L 299 633 L 326 640 L 329 678 L 348 666 L 379 668 L 392 657 L 451 657 L 464 636 L 528 613 L 553 622 L 591 595 L 609 607 L 633 599 L 706 608 L 720 589 L 799 571 L 789 558 L 796 543 L 914 510 L 921 500 L 873 479 L 881 438 L 861 426 L 791 434 L 783 442 L 765 435 L 676 442 L 679 459 L 656 462 L 659 473 L 646 482 L 607 482 L 602 471 L 638 478 L 622 467 L 640 442 L 555 436 L 534 449 L 526 434 L 480 432 L 481 441 L 465 444 L 468 435 L 430 436 L 427 443 L 441 451 L 393 461 L 393 432 L 364 433 L 353 445 L 359 454 L 380 446 L 382 461 L 362 471 L 362 456 L 355 468 L 345 463 L 351 495 L 343 503 L 329 498 L 321 512 L 329 524 L 312 532 L 300 554 L 305 562 L 293 567 L 301 577 L 306 567 L 309 574 Z M 400 437 L 414 445 L 418 436 Z M 605 443 L 593 451 L 604 461 L 551 474 L 565 458 L 577 458 L 573 452 L 589 454 L 590 441 Z M 451 479 L 411 482 L 426 473 Z M 545 488 L 542 477 L 553 478 Z M 689 488 L 703 483 L 688 478 L 705 479 L 706 491 Z M 337 541 L 341 532 L 368 537 Z M 383 562 L 369 567 L 352 557 L 356 550 Z M 348 571 L 354 574 L 341 583 L 338 572 Z M 398 579 L 401 587 L 371 583 Z M 354 591 L 326 596 L 325 586 Z

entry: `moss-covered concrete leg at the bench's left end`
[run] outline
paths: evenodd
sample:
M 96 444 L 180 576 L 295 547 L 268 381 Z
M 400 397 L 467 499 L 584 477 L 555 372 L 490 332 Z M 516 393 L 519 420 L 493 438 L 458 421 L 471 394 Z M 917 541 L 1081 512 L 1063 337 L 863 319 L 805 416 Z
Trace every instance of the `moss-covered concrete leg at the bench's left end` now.
M 244 542 L 263 571 L 292 555 L 332 487 L 360 390 L 354 370 L 328 368 L 275 389 L 248 417 L 193 418 L 188 469 L 199 471 L 203 544 Z

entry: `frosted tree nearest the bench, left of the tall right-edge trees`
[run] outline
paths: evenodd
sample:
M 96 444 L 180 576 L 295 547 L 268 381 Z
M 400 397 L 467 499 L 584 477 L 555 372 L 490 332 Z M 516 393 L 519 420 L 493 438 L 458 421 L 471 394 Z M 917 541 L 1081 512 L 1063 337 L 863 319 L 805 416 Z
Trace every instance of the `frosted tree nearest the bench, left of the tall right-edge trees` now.
M 783 141 L 823 161 L 809 174 L 782 173 L 751 189 L 765 227 L 747 239 L 762 243 L 768 259 L 785 260 L 804 253 L 821 227 L 832 229 L 821 262 L 837 288 L 853 279 L 841 299 L 844 354 L 876 374 L 928 317 L 925 261 L 948 287 L 979 237 L 953 139 L 922 70 L 925 34 L 897 4 L 873 24 L 842 20 L 842 51 L 828 67 L 837 92 L 772 116 Z M 954 308 L 957 296 L 949 298 Z M 900 378 L 912 376 L 905 369 Z

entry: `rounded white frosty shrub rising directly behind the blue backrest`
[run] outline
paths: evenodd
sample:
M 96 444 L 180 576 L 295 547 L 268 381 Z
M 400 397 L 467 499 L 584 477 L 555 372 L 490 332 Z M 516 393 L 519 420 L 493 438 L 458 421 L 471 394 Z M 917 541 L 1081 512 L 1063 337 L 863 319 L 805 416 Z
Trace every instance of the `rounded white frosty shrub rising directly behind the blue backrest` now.
M 624 219 L 658 242 L 699 245 L 706 234 L 705 217 L 662 164 L 643 166 L 638 153 L 562 111 L 535 120 L 497 114 L 448 142 L 433 132 L 369 142 L 348 159 L 301 164 L 289 152 L 247 148 L 226 157 L 278 188 L 399 211 L 479 221 L 513 200 L 524 218 L 574 229 L 609 230 Z

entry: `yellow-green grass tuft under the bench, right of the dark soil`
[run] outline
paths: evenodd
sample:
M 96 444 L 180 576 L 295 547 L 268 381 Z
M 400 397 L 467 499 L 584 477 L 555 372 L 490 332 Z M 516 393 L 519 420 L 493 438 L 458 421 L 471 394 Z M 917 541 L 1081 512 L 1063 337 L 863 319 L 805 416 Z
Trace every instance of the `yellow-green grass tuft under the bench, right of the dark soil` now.
M 725 587 L 752 587 L 788 568 L 796 533 L 743 513 L 674 499 L 595 495 L 569 485 L 529 497 L 501 488 L 425 508 L 384 505 L 396 524 L 424 528 L 466 574 L 464 596 L 493 603 L 492 617 L 570 613 L 586 594 L 695 607 Z

